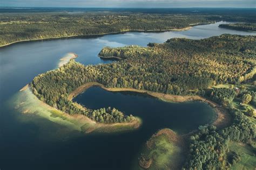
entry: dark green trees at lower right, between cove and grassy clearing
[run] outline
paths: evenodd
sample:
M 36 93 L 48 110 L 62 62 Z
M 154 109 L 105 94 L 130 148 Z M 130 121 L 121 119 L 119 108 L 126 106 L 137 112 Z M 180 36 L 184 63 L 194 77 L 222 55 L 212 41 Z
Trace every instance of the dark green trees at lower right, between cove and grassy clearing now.
M 211 90 L 210 97 L 213 100 L 219 104 L 227 103 L 226 108 L 233 118 L 233 123 L 218 131 L 215 126 L 199 127 L 199 132 L 190 137 L 189 154 L 184 169 L 227 169 L 234 165 L 240 157 L 236 153 L 232 153 L 232 158 L 227 158 L 227 154 L 230 154 L 228 148 L 230 141 L 253 143 L 255 123 L 231 104 L 235 96 L 243 93 L 244 91 L 241 91 L 237 94 L 229 88 Z M 254 92 L 252 91 L 252 93 Z

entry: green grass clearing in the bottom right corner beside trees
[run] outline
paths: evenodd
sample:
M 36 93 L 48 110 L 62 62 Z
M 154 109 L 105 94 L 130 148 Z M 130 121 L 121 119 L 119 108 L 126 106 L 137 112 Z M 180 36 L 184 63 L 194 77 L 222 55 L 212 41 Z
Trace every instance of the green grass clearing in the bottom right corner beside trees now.
M 230 169 L 233 170 L 243 170 L 243 169 L 255 169 L 256 168 L 256 148 L 241 144 L 237 142 L 230 143 L 230 151 L 237 152 L 241 160 L 237 164 L 233 165 Z

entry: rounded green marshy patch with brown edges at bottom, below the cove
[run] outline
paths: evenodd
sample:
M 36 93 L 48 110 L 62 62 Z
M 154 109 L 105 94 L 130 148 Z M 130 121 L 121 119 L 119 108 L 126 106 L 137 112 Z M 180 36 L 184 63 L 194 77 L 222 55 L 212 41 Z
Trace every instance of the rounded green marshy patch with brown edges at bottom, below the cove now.
M 181 138 L 170 129 L 153 134 L 147 141 L 139 165 L 149 169 L 180 169 L 184 160 Z

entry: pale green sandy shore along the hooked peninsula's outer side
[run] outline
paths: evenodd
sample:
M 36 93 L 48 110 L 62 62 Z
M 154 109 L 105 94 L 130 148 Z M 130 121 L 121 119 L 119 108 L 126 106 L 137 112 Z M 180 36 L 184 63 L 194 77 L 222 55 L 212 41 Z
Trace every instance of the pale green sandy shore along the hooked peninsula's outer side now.
M 131 122 L 105 124 L 92 121 L 90 118 L 84 115 L 70 115 L 39 100 L 32 93 L 29 84 L 26 84 L 26 86 L 19 90 L 13 100 L 15 103 L 15 109 L 19 110 L 19 112 L 22 114 L 35 114 L 37 116 L 46 118 L 51 122 L 65 125 L 73 130 L 84 133 L 126 132 L 136 130 L 142 124 L 142 119 L 139 117 L 136 117 L 136 119 Z

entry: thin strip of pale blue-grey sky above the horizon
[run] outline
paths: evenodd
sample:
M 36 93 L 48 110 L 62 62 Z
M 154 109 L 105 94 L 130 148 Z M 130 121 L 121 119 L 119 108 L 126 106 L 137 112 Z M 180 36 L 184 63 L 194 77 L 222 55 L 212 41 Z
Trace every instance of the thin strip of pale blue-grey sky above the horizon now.
M 256 8 L 256 0 L 0 0 L 0 6 L 79 8 Z

